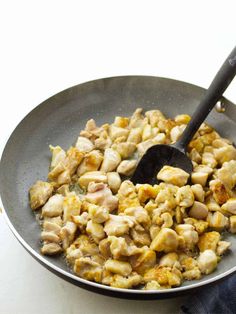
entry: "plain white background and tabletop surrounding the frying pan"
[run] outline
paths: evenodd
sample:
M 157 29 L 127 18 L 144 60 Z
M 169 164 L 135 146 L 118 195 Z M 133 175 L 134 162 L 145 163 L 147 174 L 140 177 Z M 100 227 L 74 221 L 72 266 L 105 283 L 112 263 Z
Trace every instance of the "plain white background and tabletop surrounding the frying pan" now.
M 0 150 L 53 94 L 126 74 L 207 87 L 236 44 L 235 1 L 1 1 Z M 225 95 L 236 102 L 236 79 Z M 184 299 L 125 301 L 57 278 L 18 244 L 0 215 L 0 313 L 178 313 Z

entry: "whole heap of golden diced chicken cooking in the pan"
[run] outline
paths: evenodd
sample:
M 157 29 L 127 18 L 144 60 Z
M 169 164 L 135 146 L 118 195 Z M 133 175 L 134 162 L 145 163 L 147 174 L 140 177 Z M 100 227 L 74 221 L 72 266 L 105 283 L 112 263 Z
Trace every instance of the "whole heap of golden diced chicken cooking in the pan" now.
M 159 110 L 89 120 L 67 151 L 50 146 L 48 181 L 29 191 L 41 252 L 64 254 L 81 278 L 116 288 L 167 289 L 213 272 L 236 233 L 236 149 L 203 123 L 188 146 L 189 175 L 164 166 L 159 184 L 130 180 L 155 144 L 177 141 L 190 116 Z

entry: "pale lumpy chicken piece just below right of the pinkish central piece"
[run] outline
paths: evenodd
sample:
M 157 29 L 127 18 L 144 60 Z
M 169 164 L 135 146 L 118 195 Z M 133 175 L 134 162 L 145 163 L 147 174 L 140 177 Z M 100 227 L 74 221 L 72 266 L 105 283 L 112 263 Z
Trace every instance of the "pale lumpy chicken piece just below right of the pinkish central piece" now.
M 133 217 L 110 214 L 108 221 L 105 222 L 104 231 L 108 236 L 121 236 L 129 232 L 129 229 L 134 226 L 134 222 Z

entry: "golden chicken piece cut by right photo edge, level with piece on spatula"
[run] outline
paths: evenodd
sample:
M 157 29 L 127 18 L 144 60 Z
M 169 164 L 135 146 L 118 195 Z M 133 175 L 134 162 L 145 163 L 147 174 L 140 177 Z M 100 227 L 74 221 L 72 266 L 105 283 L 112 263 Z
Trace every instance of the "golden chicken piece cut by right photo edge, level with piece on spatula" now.
M 222 168 L 216 171 L 216 177 L 228 188 L 233 189 L 236 184 L 236 160 L 225 162 Z

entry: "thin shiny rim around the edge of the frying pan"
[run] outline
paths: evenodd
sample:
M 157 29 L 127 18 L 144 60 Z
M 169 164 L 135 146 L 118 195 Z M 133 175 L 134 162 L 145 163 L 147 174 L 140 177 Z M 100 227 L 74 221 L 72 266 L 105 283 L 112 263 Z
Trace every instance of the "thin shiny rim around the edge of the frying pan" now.
M 13 129 L 13 131 L 11 132 L 11 134 L 9 135 L 9 137 L 7 139 L 5 139 L 5 146 L 3 147 L 3 150 L 1 152 L 1 161 L 2 158 L 4 156 L 4 152 L 5 149 L 8 145 L 8 143 L 10 142 L 11 138 L 14 136 L 14 133 L 17 131 L 18 127 L 20 127 L 20 125 L 24 122 L 25 119 L 27 119 L 31 114 L 33 114 L 33 112 L 35 110 L 37 110 L 39 107 L 44 106 L 46 102 L 48 102 L 51 98 L 58 96 L 59 94 L 63 94 L 66 93 L 68 90 L 71 90 L 75 87 L 78 87 L 80 85 L 84 85 L 84 84 L 88 84 L 88 83 L 95 83 L 96 81 L 102 81 L 102 80 L 109 80 L 109 79 L 122 79 L 122 78 L 154 78 L 154 79 L 163 79 L 163 80 L 168 80 L 168 81 L 172 81 L 172 82 L 177 82 L 180 84 L 187 84 L 189 86 L 193 86 L 194 88 L 199 88 L 202 90 L 206 90 L 204 87 L 201 87 L 199 85 L 194 85 L 192 83 L 188 83 L 185 81 L 181 81 L 181 80 L 177 80 L 177 79 L 172 79 L 172 78 L 166 78 L 166 77 L 158 77 L 158 76 L 150 76 L 150 75 L 121 75 L 121 76 L 112 76 L 112 77 L 104 77 L 104 78 L 98 78 L 95 80 L 89 80 L 86 82 L 82 82 L 76 85 L 73 85 L 71 87 L 68 87 L 62 91 L 59 91 L 58 93 L 50 96 L 49 98 L 47 98 L 46 100 L 44 100 L 43 102 L 41 102 L 39 105 L 35 106 L 32 110 L 30 110 L 25 117 L 23 117 L 23 119 L 16 125 L 16 127 Z M 225 97 L 223 97 L 223 99 L 225 99 L 226 101 L 228 101 Z M 231 102 L 231 101 L 229 101 Z M 0 161 L 0 168 L 1 168 L 1 161 Z M 2 184 L 2 183 L 1 183 Z M 1 185 L 0 184 L 0 185 Z M 0 197 L 0 206 L 3 208 L 3 216 L 5 217 L 5 220 L 7 222 L 8 227 L 10 228 L 10 230 L 12 231 L 12 233 L 14 234 L 14 236 L 16 237 L 16 239 L 21 243 L 21 245 L 37 260 L 39 261 L 44 267 L 47 267 L 49 270 L 53 270 L 56 274 L 58 275 L 62 275 L 65 277 L 68 277 L 68 279 L 71 279 L 73 281 L 82 283 L 86 286 L 91 286 L 95 289 L 99 289 L 99 290 L 104 290 L 105 291 L 109 291 L 109 292 L 113 292 L 116 293 L 117 295 L 120 295 L 120 297 L 122 297 L 122 295 L 146 295 L 147 297 L 150 295 L 171 295 L 172 297 L 175 297 L 174 294 L 178 294 L 180 292 L 191 292 L 194 289 L 200 288 L 200 287 L 204 287 L 207 286 L 211 283 L 217 282 L 227 276 L 229 276 L 230 274 L 233 274 L 234 272 L 236 272 L 236 266 L 232 267 L 231 269 L 216 275 L 212 278 L 206 279 L 202 282 L 197 282 L 197 283 L 193 283 L 189 286 L 180 286 L 180 287 L 176 287 L 176 288 L 171 288 L 171 289 L 166 289 L 166 290 L 136 290 L 136 289 L 123 289 L 123 288 L 114 288 L 114 287 L 110 287 L 110 286 L 106 286 L 103 284 L 99 284 L 99 283 L 95 283 L 95 282 L 91 282 L 88 280 L 85 280 L 83 278 L 80 278 L 72 273 L 70 273 L 69 271 L 65 271 L 62 268 L 54 265 L 52 262 L 48 261 L 47 259 L 45 259 L 43 257 L 43 255 L 40 255 L 39 253 L 37 253 L 23 238 L 22 236 L 18 233 L 18 231 L 15 229 L 13 223 L 11 222 L 10 218 L 7 215 L 7 211 L 5 210 L 4 206 L 3 206 L 3 202 L 2 199 Z

